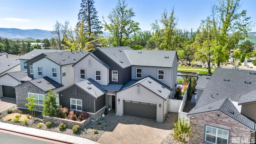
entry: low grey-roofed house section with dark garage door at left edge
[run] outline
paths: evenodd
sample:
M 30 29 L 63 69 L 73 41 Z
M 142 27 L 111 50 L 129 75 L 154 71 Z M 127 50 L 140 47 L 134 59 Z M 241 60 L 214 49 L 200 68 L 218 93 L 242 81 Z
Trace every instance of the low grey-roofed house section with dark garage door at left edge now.
M 0 97 L 16 98 L 14 86 L 32 80 L 27 71 L 10 72 L 0 76 Z

